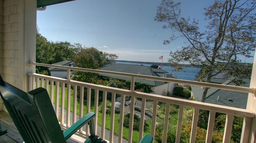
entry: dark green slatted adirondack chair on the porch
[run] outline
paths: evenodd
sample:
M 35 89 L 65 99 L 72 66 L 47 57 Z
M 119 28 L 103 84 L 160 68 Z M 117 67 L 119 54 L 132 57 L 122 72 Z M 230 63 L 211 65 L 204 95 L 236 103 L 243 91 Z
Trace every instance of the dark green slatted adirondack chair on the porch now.
M 26 93 L 4 82 L 0 75 L 0 95 L 25 143 L 64 143 L 86 123 L 89 124 L 90 136 L 85 143 L 106 142 L 95 135 L 93 112 L 63 132 L 44 88 Z M 140 142 L 150 143 L 152 140 L 151 135 L 145 135 Z

